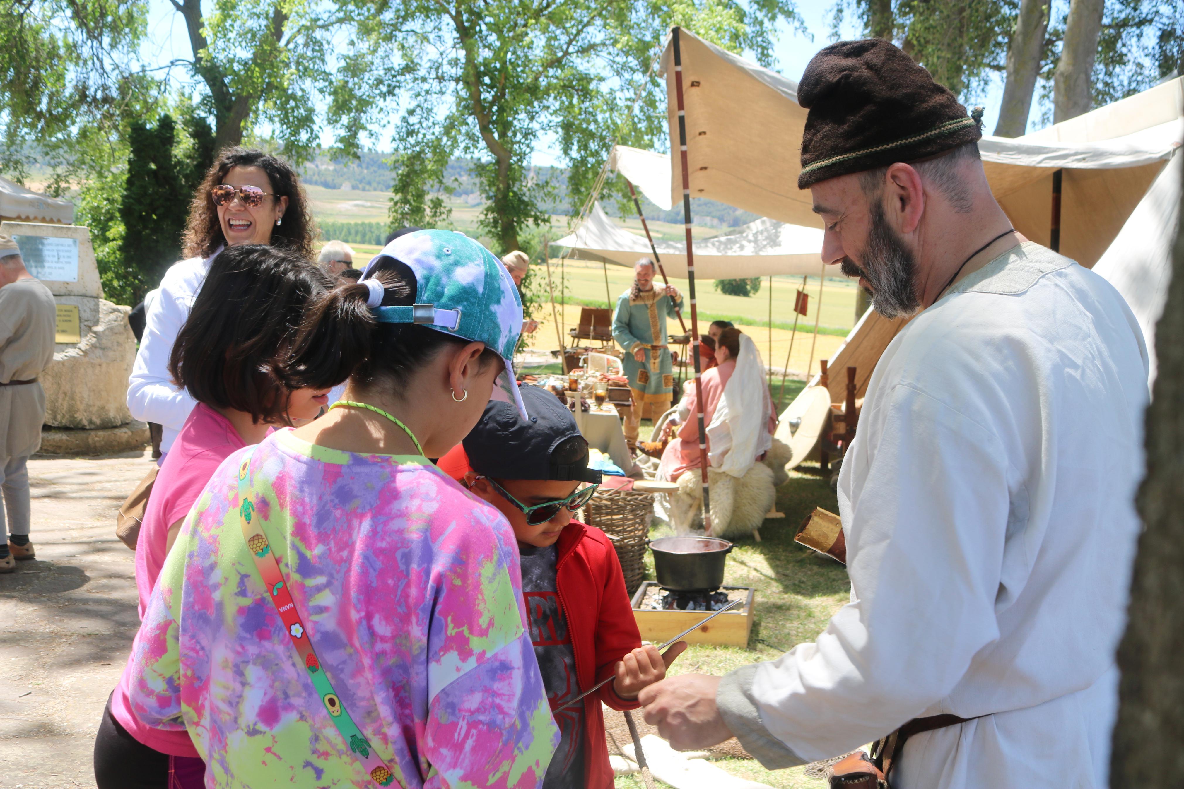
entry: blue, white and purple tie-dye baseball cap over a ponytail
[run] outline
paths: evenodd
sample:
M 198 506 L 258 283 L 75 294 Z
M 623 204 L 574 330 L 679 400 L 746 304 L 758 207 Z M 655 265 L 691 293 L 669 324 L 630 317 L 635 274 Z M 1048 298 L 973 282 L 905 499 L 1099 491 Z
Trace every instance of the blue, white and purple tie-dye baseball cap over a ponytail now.
M 491 400 L 514 403 L 529 419 L 514 380 L 514 349 L 522 332 L 522 299 L 494 253 L 456 231 L 416 231 L 392 240 L 362 269 L 394 258 L 416 274 L 413 306 L 372 306 L 384 323 L 420 323 L 463 339 L 483 342 L 506 361 Z

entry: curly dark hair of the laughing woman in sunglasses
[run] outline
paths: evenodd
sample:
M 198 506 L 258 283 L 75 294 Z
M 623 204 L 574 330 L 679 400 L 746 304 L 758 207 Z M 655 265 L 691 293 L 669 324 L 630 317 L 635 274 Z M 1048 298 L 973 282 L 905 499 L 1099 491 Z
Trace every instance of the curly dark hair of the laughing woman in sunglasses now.
M 296 170 L 278 156 L 240 147 L 223 149 L 206 172 L 206 177 L 201 180 L 198 190 L 193 193 L 189 226 L 185 229 L 185 256 L 205 258 L 226 244 L 226 237 L 223 235 L 221 225 L 218 222 L 218 207 L 214 206 L 210 190 L 221 183 L 226 174 L 236 167 L 258 167 L 268 174 L 275 199 L 288 198 L 284 221 L 271 231 L 272 246 L 282 246 L 311 259 L 313 238 L 316 231 Z

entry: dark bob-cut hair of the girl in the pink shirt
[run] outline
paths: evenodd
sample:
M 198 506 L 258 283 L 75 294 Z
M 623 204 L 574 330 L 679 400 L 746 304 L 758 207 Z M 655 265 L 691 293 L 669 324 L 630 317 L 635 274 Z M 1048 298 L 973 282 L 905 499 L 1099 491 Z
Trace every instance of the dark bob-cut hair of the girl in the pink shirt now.
M 244 244 L 214 258 L 168 371 L 198 402 L 285 422 L 289 390 L 272 368 L 292 345 L 304 310 L 333 286 L 311 260 Z

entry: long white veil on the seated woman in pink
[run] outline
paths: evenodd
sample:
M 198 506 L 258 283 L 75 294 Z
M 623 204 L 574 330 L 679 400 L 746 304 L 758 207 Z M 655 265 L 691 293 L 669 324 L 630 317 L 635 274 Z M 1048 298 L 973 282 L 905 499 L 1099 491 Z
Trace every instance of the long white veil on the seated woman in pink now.
M 760 353 L 752 337 L 741 334 L 736 368 L 723 387 L 723 396 L 715 407 L 712 423 L 707 426 L 712 467 L 736 478 L 744 477 L 757 457 L 773 446 L 773 436 L 768 433 L 771 413 L 772 402 Z

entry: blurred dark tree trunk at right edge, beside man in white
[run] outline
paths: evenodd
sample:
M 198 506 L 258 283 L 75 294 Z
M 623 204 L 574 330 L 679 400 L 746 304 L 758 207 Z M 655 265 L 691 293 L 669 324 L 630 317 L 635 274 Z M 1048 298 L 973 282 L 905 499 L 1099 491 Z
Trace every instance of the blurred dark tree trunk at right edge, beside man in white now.
M 1177 154 L 1178 155 L 1178 154 Z M 1184 212 L 1180 213 L 1184 219 Z M 1177 229 L 1167 304 L 1156 326 L 1159 373 L 1147 408 L 1144 532 L 1134 561 L 1130 621 L 1111 754 L 1111 787 L 1184 782 L 1184 233 Z

